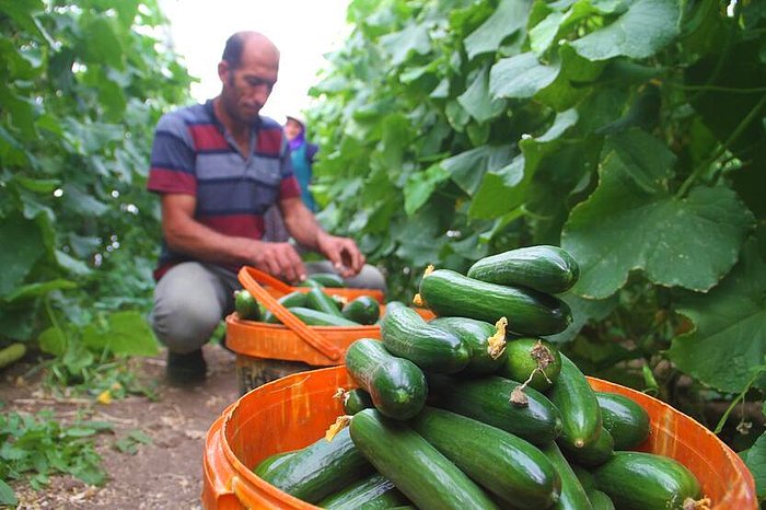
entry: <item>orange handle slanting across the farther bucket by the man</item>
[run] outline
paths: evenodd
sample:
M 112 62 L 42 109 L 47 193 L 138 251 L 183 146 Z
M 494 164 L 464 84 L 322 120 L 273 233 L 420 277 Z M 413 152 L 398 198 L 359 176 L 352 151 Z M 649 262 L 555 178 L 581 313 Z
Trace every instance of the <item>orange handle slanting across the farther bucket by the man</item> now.
M 268 285 L 270 285 L 271 280 L 278 281 L 280 287 L 275 287 L 282 292 L 285 292 L 282 288 L 287 288 L 287 291 L 289 292 L 291 290 L 289 286 L 286 286 L 276 278 L 248 266 L 243 266 L 242 269 L 240 269 L 237 277 L 240 278 L 242 286 L 247 289 L 247 292 L 249 292 L 253 298 L 264 303 L 264 306 L 275 314 L 277 318 L 282 322 L 282 324 L 298 334 L 303 341 L 316 349 L 322 356 L 333 361 L 337 361 L 340 358 L 341 351 L 337 346 L 323 338 L 315 331 L 306 326 L 303 321 L 293 315 L 292 312 L 282 306 L 279 301 L 274 299 L 271 294 L 266 291 L 266 289 L 258 285 L 258 281 Z

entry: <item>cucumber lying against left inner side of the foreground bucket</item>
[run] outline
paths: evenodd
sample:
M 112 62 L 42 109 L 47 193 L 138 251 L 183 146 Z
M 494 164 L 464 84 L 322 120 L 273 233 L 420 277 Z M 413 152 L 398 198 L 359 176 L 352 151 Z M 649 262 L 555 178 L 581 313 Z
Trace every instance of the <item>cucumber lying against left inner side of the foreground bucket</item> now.
M 353 445 L 348 429 L 297 451 L 262 478 L 307 502 L 316 502 L 368 475 L 372 466 Z

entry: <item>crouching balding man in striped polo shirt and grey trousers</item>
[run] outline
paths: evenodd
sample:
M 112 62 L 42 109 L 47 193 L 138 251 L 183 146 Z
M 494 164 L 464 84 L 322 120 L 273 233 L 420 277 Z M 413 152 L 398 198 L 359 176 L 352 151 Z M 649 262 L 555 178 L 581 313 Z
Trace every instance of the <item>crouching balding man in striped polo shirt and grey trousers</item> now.
M 218 65 L 220 95 L 156 126 L 147 187 L 161 196 L 163 243 L 152 322 L 169 349 L 172 383 L 205 380 L 201 347 L 233 308 L 241 266 L 290 282 L 306 278 L 292 244 L 262 241 L 269 206 L 278 204 L 295 242 L 323 254 L 339 275 L 364 266 L 356 243 L 326 233 L 302 204 L 282 129 L 259 115 L 278 67 L 268 38 L 236 33 Z

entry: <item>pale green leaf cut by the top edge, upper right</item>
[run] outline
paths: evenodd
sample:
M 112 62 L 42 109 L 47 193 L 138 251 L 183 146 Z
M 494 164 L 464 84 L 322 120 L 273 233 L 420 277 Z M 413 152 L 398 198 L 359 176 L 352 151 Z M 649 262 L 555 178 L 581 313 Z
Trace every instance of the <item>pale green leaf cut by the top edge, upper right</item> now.
M 636 0 L 617 20 L 571 45 L 589 60 L 648 58 L 675 39 L 680 16 L 677 0 Z

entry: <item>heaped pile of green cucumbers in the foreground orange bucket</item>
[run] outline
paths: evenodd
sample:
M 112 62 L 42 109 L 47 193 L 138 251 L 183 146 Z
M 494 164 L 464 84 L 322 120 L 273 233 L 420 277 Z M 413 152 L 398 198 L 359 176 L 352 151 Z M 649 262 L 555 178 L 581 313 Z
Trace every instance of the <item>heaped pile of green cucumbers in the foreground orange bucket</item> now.
M 468 276 L 429 273 L 419 291 L 438 318 L 390 303 L 382 341 L 347 350 L 359 389 L 339 392 L 332 440 L 255 473 L 328 509 L 706 508 L 685 466 L 630 451 L 649 434 L 647 412 L 594 392 L 538 338 L 569 323 L 553 294 L 577 277 L 554 246 L 487 257 Z

